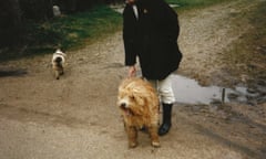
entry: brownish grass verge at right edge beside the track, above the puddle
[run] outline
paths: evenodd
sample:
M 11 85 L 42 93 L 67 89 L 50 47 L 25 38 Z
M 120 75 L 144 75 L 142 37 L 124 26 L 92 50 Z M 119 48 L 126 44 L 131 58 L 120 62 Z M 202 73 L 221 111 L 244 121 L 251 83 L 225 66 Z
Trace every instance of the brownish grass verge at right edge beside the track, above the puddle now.
M 266 80 L 266 1 L 254 11 L 239 15 L 247 17 L 248 31 L 232 44 L 226 53 L 229 72 L 238 76 L 248 75 L 250 80 Z

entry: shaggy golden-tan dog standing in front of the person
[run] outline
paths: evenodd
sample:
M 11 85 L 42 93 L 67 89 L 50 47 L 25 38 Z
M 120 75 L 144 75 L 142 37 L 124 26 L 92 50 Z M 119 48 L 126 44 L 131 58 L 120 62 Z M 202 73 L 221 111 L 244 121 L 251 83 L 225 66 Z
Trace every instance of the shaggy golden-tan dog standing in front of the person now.
M 122 112 L 129 147 L 137 146 L 137 130 L 149 130 L 152 146 L 160 147 L 157 135 L 158 97 L 153 86 L 142 78 L 126 78 L 119 87 L 117 106 Z

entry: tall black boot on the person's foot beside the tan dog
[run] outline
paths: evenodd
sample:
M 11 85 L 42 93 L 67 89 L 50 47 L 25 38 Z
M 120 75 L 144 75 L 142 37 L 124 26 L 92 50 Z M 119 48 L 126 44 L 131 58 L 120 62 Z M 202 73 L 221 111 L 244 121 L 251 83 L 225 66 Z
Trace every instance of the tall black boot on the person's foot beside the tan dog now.
M 172 117 L 173 104 L 163 104 L 163 124 L 158 128 L 158 135 L 166 135 L 171 128 L 171 117 Z

